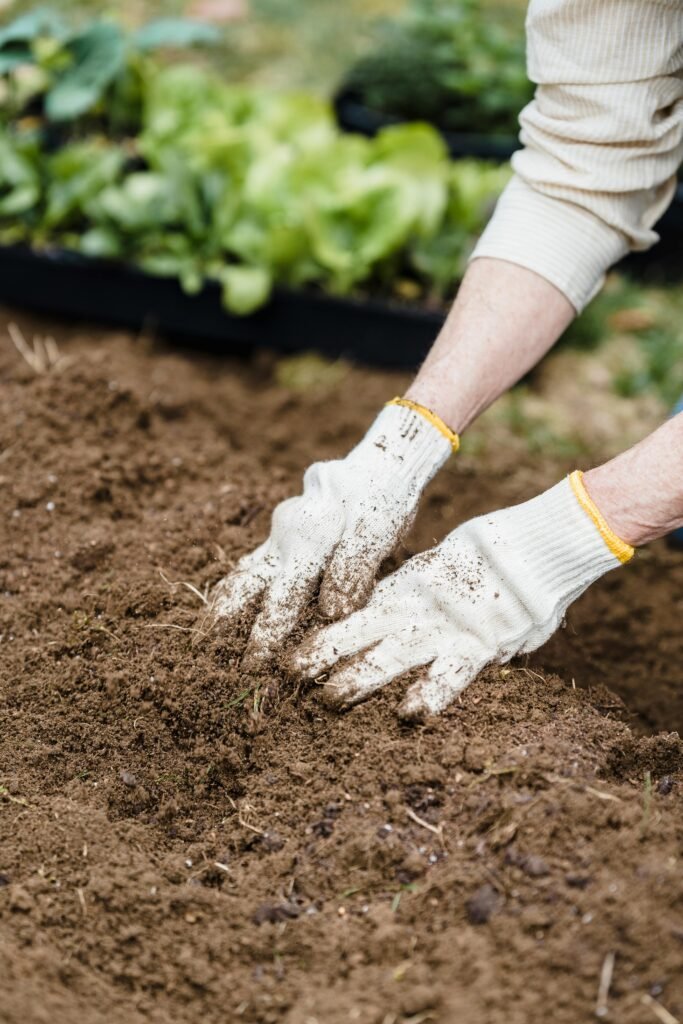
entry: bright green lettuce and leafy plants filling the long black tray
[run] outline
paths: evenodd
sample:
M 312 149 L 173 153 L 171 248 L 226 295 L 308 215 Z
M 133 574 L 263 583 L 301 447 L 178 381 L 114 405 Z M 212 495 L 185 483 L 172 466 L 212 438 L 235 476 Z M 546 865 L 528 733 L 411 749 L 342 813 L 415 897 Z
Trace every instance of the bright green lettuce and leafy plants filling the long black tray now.
M 275 285 L 391 294 L 409 281 L 436 300 L 454 288 L 506 168 L 452 163 L 427 125 L 350 136 L 312 96 L 147 59 L 136 125 L 121 136 L 116 91 L 101 92 L 114 38 L 89 36 L 101 78 L 91 67 L 76 85 L 59 79 L 70 117 L 56 145 L 40 117 L 0 128 L 1 242 L 124 260 L 189 292 L 212 280 L 238 314 Z M 84 120 L 97 90 L 100 116 Z

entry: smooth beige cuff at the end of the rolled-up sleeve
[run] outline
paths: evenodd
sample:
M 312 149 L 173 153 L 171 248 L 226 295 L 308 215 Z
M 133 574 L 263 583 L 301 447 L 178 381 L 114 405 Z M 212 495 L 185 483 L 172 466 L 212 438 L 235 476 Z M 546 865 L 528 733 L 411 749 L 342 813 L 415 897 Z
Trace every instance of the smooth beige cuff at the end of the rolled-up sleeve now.
M 626 238 L 592 213 L 515 176 L 471 259 L 486 256 L 533 270 L 581 312 L 602 287 L 605 271 L 628 251 Z

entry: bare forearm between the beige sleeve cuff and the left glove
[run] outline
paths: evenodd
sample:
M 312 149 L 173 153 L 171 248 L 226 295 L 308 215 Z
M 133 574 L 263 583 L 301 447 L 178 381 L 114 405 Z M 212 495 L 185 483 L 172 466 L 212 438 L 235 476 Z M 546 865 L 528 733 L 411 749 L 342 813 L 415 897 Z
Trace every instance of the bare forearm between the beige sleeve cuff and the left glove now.
M 572 317 L 568 300 L 539 274 L 475 260 L 407 397 L 460 433 L 546 354 Z

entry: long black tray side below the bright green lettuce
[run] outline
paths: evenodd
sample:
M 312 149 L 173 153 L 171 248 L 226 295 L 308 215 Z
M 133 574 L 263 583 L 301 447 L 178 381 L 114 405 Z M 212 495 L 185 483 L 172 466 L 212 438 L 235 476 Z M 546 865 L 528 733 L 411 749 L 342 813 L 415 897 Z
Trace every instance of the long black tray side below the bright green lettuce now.
M 0 302 L 138 330 L 147 328 L 202 348 L 244 354 L 314 349 L 374 366 L 413 369 L 443 323 L 436 310 L 319 292 L 276 291 L 250 316 L 233 316 L 220 288 L 187 295 L 175 279 L 62 251 L 0 247 Z

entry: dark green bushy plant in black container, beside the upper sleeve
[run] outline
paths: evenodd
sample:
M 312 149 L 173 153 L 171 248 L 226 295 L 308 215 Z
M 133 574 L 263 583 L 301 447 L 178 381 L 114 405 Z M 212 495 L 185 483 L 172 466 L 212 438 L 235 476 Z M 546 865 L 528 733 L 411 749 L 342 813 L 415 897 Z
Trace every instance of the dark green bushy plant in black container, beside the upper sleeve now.
M 380 27 L 345 89 L 370 108 L 451 131 L 513 133 L 531 98 L 521 22 L 511 27 L 477 0 L 412 0 Z

